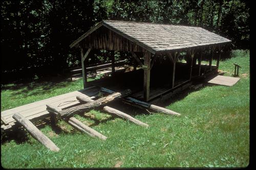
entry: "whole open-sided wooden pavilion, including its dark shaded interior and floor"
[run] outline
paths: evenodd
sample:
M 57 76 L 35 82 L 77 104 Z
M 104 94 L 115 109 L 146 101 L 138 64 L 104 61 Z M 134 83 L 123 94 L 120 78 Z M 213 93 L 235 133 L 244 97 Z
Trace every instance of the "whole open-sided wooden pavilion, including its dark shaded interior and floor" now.
M 230 42 L 200 27 L 103 20 L 75 40 L 70 47 L 80 48 L 84 88 L 96 85 L 117 91 L 128 87 L 132 90 L 133 98 L 150 101 L 191 82 L 195 77 L 217 72 L 222 46 Z M 112 53 L 112 77 L 87 83 L 86 61 L 89 53 L 94 50 L 129 52 L 136 61 L 135 70 L 138 65 L 142 69 L 116 74 Z M 211 57 L 209 64 L 202 65 L 205 50 L 210 50 Z M 178 62 L 182 52 L 190 58 L 186 64 Z M 217 64 L 212 65 L 215 52 L 218 52 L 219 57 Z M 154 65 L 163 57 L 169 58 L 172 64 L 164 62 Z M 167 70 L 164 70 L 166 65 Z

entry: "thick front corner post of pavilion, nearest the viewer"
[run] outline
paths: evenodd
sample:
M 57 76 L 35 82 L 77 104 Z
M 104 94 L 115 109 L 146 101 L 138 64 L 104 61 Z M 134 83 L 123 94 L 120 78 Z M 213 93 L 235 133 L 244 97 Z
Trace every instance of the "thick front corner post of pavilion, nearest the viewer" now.
M 150 99 L 150 68 L 151 68 L 151 53 L 146 52 L 144 55 L 144 100 Z

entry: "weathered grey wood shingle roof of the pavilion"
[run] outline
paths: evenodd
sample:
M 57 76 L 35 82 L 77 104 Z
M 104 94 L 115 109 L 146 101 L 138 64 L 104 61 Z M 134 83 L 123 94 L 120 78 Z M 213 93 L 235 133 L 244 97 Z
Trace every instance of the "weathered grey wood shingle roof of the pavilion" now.
M 97 26 L 74 41 L 70 47 L 78 44 L 83 38 L 101 26 L 105 26 L 106 28 L 115 31 L 153 53 L 231 42 L 227 38 L 200 27 L 103 20 Z

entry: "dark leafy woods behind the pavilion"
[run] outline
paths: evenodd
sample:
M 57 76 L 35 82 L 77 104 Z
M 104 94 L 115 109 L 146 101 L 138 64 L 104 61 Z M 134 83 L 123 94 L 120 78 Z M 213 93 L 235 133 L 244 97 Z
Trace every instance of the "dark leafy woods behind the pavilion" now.
M 198 26 L 249 48 L 248 1 L 1 1 L 2 83 L 79 66 L 69 45 L 102 19 Z

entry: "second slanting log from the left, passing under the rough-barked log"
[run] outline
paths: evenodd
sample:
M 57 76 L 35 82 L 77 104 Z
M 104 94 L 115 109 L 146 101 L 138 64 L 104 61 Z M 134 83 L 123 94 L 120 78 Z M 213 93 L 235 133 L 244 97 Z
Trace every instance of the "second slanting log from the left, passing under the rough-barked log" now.
M 55 115 L 58 114 L 62 109 L 53 106 L 51 104 L 47 104 L 47 110 L 51 113 L 54 113 Z M 92 137 L 98 137 L 100 139 L 106 140 L 106 136 L 100 134 L 99 132 L 95 131 L 94 129 L 90 128 L 89 126 L 84 125 L 82 122 L 77 120 L 75 117 L 69 117 L 64 119 L 68 124 L 76 128 L 77 130 L 87 133 L 88 135 Z

